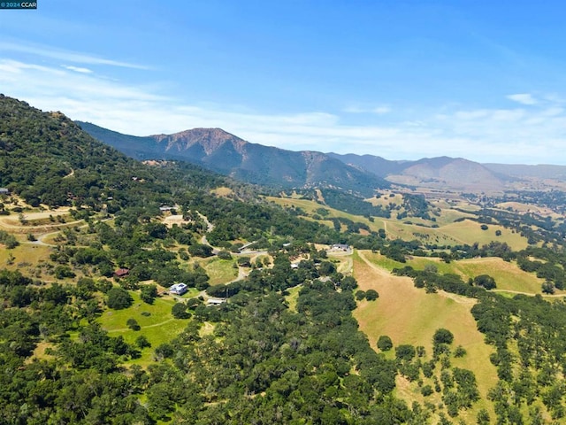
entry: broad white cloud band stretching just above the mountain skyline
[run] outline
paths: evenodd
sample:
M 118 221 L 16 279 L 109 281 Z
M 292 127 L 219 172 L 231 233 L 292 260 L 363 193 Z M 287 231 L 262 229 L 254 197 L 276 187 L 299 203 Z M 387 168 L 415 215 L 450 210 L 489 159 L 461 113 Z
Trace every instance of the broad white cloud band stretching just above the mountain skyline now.
M 132 135 L 219 127 L 249 142 L 291 150 L 369 153 L 390 159 L 448 155 L 481 162 L 566 164 L 566 111 L 562 101 L 543 95 L 544 102 L 529 107 L 450 105 L 439 107 L 441 113 L 424 110 L 405 115 L 395 108 L 386 125 L 376 125 L 371 116 L 351 120 L 353 112 L 270 114 L 225 104 L 189 104 L 160 94 L 155 86 L 134 86 L 74 68 L 0 59 L 0 87 L 7 96 L 43 110 L 65 112 L 73 120 Z M 379 113 L 379 108 L 386 106 L 373 106 L 366 109 L 373 112 L 364 113 Z

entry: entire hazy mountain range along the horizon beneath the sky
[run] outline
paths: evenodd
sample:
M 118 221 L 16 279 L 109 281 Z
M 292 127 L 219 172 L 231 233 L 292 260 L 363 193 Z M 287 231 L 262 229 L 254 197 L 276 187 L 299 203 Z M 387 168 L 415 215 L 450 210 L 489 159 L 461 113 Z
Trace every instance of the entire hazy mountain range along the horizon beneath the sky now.
M 88 134 L 126 155 L 178 159 L 235 179 L 282 188 L 334 188 L 370 195 L 391 183 L 436 189 L 501 190 L 525 179 L 566 180 L 566 166 L 480 164 L 464 158 L 388 160 L 379 156 L 287 151 L 249 143 L 220 128 L 172 135 L 123 135 L 88 122 Z

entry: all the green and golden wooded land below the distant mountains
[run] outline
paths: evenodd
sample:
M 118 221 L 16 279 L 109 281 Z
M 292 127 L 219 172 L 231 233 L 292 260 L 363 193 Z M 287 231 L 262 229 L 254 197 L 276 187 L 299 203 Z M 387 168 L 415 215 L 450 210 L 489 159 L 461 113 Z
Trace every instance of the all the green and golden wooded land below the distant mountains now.
M 562 216 L 486 196 L 265 197 L 126 158 L 58 112 L 0 111 L 0 424 L 566 417 Z M 421 309 L 455 303 L 471 346 Z

